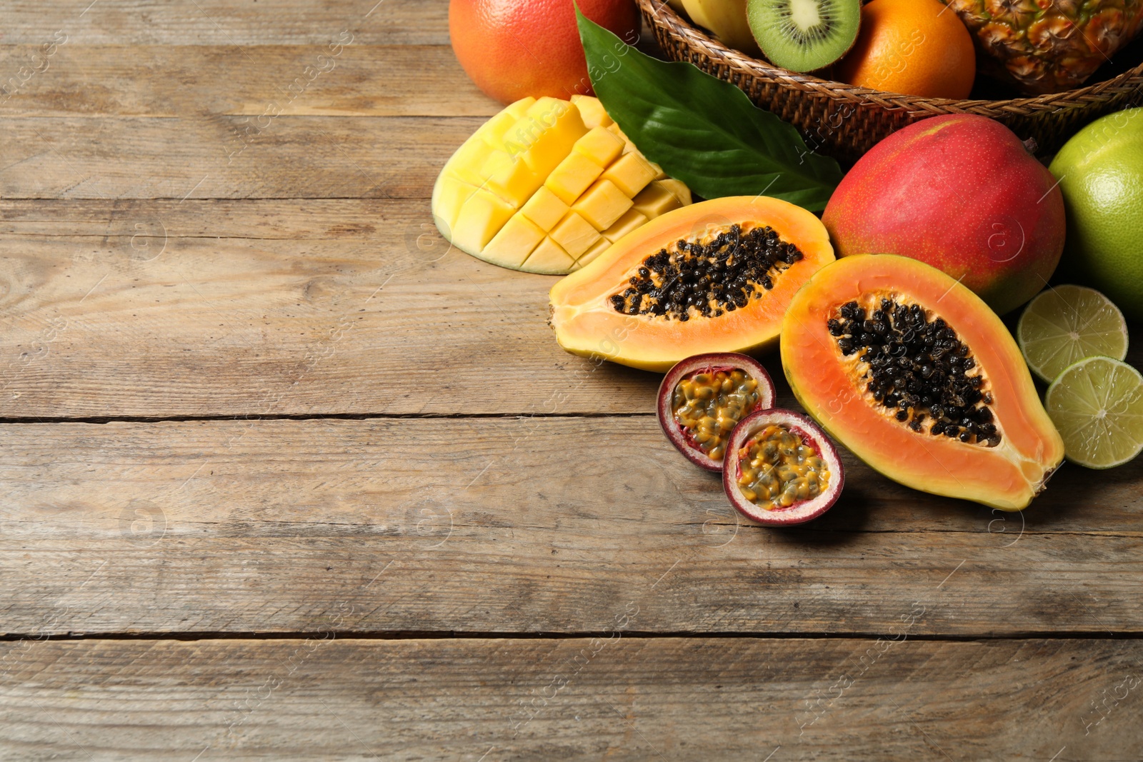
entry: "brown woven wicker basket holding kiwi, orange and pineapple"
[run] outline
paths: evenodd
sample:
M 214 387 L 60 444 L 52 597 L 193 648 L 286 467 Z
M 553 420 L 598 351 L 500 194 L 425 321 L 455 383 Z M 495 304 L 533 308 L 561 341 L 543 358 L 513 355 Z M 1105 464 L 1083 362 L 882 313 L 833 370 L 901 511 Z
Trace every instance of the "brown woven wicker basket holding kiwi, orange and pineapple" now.
M 797 127 L 812 151 L 852 163 L 878 141 L 927 117 L 969 113 L 1008 126 L 1052 153 L 1096 117 L 1143 102 L 1143 64 L 1066 93 L 1008 101 L 896 95 L 798 74 L 732 50 L 692 26 L 664 0 L 638 0 L 668 57 L 733 82 L 756 104 Z

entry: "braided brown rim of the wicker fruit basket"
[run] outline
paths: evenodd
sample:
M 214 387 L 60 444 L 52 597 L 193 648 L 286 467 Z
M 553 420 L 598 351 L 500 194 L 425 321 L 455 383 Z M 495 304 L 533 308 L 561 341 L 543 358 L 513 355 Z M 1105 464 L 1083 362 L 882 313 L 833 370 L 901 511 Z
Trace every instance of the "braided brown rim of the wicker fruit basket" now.
M 1117 77 L 1095 85 L 1049 93 L 1046 95 L 1001 101 L 957 101 L 951 98 L 926 98 L 913 95 L 886 93 L 845 82 L 820 79 L 810 74 L 799 74 L 788 69 L 775 66 L 765 61 L 753 58 L 744 53 L 728 48 L 709 37 L 697 26 L 693 26 L 681 17 L 666 0 L 638 0 L 644 16 L 661 27 L 671 37 L 682 42 L 692 50 L 704 53 L 714 62 L 725 63 L 743 74 L 770 80 L 789 89 L 804 93 L 815 93 L 836 101 L 847 101 L 853 104 L 876 103 L 887 109 L 900 109 L 912 113 L 945 114 L 972 113 L 984 117 L 997 117 L 1002 113 L 1028 114 L 1032 112 L 1058 111 L 1070 106 L 1084 106 L 1093 101 L 1104 101 L 1119 93 L 1138 90 L 1143 87 L 1143 63 Z

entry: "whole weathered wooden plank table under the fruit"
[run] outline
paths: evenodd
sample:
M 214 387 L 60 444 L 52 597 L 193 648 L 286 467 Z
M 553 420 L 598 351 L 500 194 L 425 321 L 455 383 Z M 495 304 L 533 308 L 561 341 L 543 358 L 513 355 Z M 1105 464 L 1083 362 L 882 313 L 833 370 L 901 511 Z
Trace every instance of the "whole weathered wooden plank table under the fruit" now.
M 435 234 L 443 0 L 89 2 L 0 14 L 0 760 L 1140 759 L 1143 462 L 751 526 Z

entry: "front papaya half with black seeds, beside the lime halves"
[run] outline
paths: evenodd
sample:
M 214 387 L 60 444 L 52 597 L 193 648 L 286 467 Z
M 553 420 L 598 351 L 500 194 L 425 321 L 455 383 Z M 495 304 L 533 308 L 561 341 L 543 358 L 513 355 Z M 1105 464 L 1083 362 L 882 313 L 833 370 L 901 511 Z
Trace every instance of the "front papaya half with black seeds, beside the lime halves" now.
M 913 489 L 1018 511 L 1064 457 L 1008 329 L 916 259 L 815 273 L 782 322 L 782 367 L 831 435 Z

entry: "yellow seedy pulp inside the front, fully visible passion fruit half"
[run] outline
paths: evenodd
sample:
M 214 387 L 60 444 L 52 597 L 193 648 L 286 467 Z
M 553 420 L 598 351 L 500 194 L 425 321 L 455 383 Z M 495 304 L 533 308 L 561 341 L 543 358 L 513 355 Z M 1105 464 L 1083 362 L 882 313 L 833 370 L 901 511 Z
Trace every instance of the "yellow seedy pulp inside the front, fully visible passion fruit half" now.
M 754 505 L 776 511 L 809 500 L 830 486 L 830 468 L 800 434 L 768 424 L 738 450 L 738 488 Z

